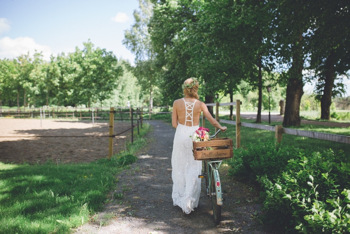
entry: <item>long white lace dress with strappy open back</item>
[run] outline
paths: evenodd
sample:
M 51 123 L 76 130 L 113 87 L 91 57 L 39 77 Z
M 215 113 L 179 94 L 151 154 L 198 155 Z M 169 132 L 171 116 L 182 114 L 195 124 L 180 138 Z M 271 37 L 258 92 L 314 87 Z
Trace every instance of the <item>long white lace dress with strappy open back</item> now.
M 176 127 L 174 143 L 171 155 L 172 174 L 172 200 L 174 205 L 182 208 L 186 214 L 198 206 L 200 195 L 201 161 L 193 158 L 192 140 L 189 136 L 198 129 L 198 125 L 193 126 L 193 106 L 194 103 L 185 102 L 186 122 L 191 122 L 192 126 L 178 124 Z

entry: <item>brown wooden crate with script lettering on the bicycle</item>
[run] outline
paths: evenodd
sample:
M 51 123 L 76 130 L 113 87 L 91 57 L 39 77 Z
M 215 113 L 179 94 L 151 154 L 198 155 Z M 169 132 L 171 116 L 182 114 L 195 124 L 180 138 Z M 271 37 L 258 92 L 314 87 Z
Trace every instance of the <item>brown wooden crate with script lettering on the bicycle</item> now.
M 207 150 L 211 147 L 213 150 Z M 227 159 L 233 157 L 232 139 L 214 138 L 210 141 L 193 141 L 194 160 Z

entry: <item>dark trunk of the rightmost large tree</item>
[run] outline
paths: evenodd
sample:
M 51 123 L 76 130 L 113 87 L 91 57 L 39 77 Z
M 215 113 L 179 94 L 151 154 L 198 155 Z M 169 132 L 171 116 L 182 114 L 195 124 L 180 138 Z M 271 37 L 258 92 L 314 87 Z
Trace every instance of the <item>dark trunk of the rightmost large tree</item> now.
M 332 89 L 334 87 L 334 50 L 331 50 L 325 62 L 324 87 L 321 97 L 321 119 L 330 120 L 330 105 L 332 103 Z

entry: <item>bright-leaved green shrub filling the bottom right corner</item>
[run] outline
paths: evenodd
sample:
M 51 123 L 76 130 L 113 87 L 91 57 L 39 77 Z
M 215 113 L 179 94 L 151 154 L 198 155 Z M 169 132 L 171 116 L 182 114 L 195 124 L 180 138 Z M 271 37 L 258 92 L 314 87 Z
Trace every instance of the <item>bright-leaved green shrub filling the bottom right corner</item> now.
M 350 231 L 350 163 L 331 150 L 300 152 L 272 182 L 258 176 L 266 190 L 263 221 L 287 233 Z

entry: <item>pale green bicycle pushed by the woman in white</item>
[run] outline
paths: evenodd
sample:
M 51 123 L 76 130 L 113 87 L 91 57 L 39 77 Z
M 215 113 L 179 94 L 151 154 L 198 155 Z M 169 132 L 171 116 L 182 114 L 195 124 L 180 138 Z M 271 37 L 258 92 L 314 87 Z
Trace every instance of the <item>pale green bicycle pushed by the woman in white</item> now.
M 215 137 L 219 131 L 220 130 L 218 130 L 214 135 L 210 136 L 210 139 Z M 225 147 L 216 146 L 215 150 L 220 150 L 220 148 L 221 149 L 227 148 L 230 151 L 229 157 L 232 157 L 232 153 L 231 153 L 232 140 L 229 138 L 217 138 L 215 140 L 220 140 L 220 139 L 223 139 L 224 141 L 228 140 L 229 146 L 227 146 L 227 143 L 224 143 L 226 144 Z M 228 158 L 228 157 L 223 157 L 223 158 Z M 206 195 L 208 195 L 211 199 L 214 222 L 216 225 L 218 225 L 221 221 L 222 191 L 221 191 L 221 182 L 220 182 L 220 176 L 219 176 L 219 167 L 221 163 L 222 163 L 222 160 L 220 158 L 219 159 L 208 158 L 204 160 L 204 173 L 201 175 L 198 175 L 198 178 L 205 178 Z

